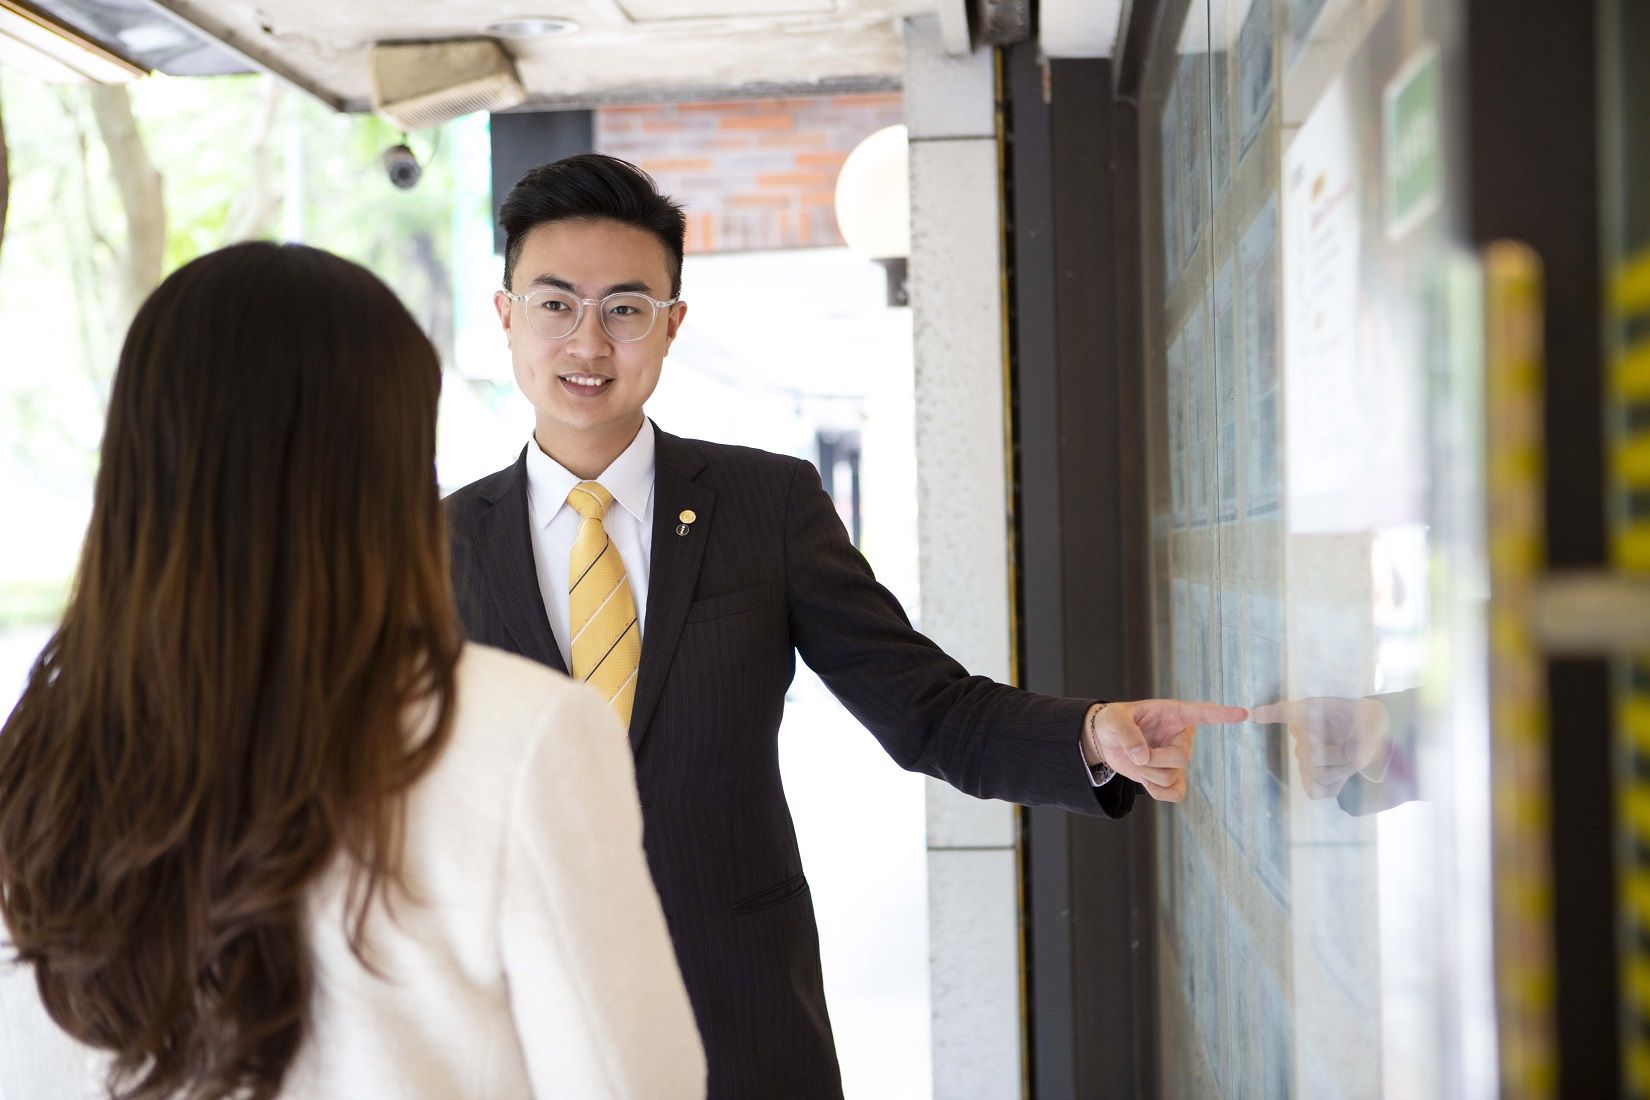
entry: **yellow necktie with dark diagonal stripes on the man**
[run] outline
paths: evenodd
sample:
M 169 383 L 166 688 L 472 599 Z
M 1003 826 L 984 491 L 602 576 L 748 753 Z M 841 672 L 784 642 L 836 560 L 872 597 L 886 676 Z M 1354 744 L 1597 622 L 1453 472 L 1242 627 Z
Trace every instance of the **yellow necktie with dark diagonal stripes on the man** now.
M 619 548 L 602 516 L 614 495 L 596 482 L 579 482 L 568 505 L 582 516 L 568 571 L 568 628 L 573 632 L 573 678 L 602 693 L 619 719 L 630 724 L 635 670 L 642 660 L 642 625 Z

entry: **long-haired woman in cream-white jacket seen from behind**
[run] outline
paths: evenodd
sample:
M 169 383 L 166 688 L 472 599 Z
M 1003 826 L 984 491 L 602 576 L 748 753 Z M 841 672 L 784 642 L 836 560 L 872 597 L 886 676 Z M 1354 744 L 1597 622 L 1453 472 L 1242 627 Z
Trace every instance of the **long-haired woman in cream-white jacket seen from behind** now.
M 317 249 L 139 312 L 0 731 L 5 1100 L 703 1095 L 624 731 L 460 640 L 439 389 Z

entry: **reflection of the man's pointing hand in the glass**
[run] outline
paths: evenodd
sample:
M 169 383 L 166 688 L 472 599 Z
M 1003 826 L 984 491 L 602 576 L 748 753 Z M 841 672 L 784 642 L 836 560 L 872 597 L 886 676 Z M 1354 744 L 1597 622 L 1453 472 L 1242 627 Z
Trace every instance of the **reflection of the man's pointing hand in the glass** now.
M 1335 798 L 1353 775 L 1379 783 L 1393 757 L 1393 717 L 1379 699 L 1284 699 L 1251 711 L 1256 722 L 1285 722 L 1300 783 L 1312 798 Z

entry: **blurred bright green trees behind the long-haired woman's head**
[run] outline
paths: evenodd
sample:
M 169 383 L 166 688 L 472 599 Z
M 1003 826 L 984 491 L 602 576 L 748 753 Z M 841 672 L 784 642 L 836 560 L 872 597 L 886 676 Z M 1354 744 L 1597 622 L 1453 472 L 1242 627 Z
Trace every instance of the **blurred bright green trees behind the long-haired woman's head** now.
M 87 89 L 3 71 L 0 89 L 13 124 L 0 130 L 0 229 L 10 213 L 0 511 L 89 503 L 132 313 L 165 272 L 224 244 L 276 236 L 360 261 L 450 361 L 454 188 L 439 134 L 411 139 L 424 178 L 401 191 L 381 167 L 398 130 L 335 114 L 267 76 Z M 61 607 L 84 513 L 51 506 L 58 515 L 41 521 L 40 538 L 63 552 L 41 564 L 41 554 L 0 548 L 0 628 L 50 622 Z

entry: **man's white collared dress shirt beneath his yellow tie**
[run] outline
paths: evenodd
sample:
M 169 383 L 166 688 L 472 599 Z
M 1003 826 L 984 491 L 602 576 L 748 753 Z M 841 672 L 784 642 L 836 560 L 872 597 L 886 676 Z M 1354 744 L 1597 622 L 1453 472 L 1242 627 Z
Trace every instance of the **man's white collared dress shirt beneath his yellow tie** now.
M 540 450 L 538 440 L 528 440 L 526 518 L 533 531 L 533 567 L 549 615 L 549 632 L 556 635 L 556 648 L 569 670 L 573 648 L 568 635 L 573 632 L 568 627 L 568 562 L 582 519 L 568 505 L 568 493 L 582 480 Z M 630 599 L 635 600 L 635 628 L 645 638 L 647 571 L 653 559 L 653 422 L 644 417 L 642 430 L 630 445 L 594 480 L 614 495 L 602 526 L 624 562 Z

